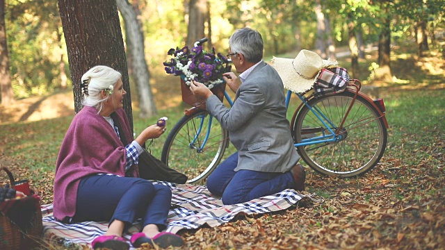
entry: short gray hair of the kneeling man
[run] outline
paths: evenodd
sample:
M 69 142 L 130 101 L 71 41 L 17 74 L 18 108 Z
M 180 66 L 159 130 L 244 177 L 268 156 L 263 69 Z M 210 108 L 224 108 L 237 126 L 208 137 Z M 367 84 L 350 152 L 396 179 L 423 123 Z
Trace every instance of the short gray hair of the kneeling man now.
M 236 30 L 229 39 L 229 46 L 232 53 L 242 53 L 250 63 L 258 63 L 263 59 L 263 38 L 252 28 Z

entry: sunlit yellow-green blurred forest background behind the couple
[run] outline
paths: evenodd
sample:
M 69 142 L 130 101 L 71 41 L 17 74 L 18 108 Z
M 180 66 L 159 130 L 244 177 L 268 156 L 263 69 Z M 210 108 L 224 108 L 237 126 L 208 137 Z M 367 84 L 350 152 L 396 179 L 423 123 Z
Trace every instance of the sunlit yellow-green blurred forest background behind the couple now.
M 364 84 L 396 80 L 391 72 L 391 46 L 408 41 L 403 46 L 416 47 L 419 57 L 431 46 L 444 51 L 438 42 L 444 36 L 444 0 L 118 0 L 117 3 L 120 14 L 123 13 L 120 23 L 127 49 L 133 107 L 140 110 L 141 117 L 155 115 L 154 99 L 164 98 L 153 97 L 152 92 L 170 88 L 174 85 L 170 81 L 177 81 L 165 77 L 163 71 L 168 49 L 191 46 L 207 37 L 209 49 L 215 47 L 217 52 L 225 54 L 229 36 L 244 26 L 263 35 L 266 59 L 277 55 L 293 58 L 300 49 L 336 59 L 339 48 L 346 48 L 350 52 L 350 65 L 343 67 Z M 56 1 L 1 0 L 0 17 L 3 106 L 17 99 L 75 87 Z M 132 23 L 132 19 L 137 23 Z M 130 32 L 134 26 L 136 32 Z M 83 31 L 77 32 L 81 35 Z M 131 51 L 135 40 L 143 42 L 143 47 Z M 359 70 L 359 58 L 364 58 L 365 49 L 372 47 L 378 47 L 378 60 Z M 145 64 L 137 63 L 136 57 L 141 52 Z

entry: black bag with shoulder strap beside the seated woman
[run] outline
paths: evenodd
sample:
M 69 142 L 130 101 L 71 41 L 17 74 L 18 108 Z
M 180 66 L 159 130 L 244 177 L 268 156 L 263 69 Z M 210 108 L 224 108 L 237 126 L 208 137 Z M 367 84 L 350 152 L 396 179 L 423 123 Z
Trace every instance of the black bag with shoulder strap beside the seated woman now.
M 118 119 L 115 117 L 115 113 L 111 114 L 111 118 L 113 118 L 115 126 L 119 129 L 120 140 L 124 145 L 127 145 L 127 138 L 125 138 L 124 131 L 122 131 Z M 168 181 L 179 184 L 184 184 L 187 181 L 187 176 L 185 174 L 177 172 L 175 169 L 171 169 L 161 160 L 152 156 L 147 149 L 144 149 L 143 153 L 140 154 L 138 166 L 139 177 L 145 178 L 146 180 Z

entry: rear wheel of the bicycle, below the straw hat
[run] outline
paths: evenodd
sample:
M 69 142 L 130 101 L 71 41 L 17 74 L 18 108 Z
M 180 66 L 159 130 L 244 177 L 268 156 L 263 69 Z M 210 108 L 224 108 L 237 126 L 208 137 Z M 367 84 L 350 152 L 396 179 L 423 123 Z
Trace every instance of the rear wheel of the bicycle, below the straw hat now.
M 308 104 L 321 110 L 338 127 L 353 97 L 354 93 L 346 91 L 312 99 Z M 378 164 L 387 145 L 387 129 L 379 117 L 378 110 L 368 100 L 357 96 L 341 129 L 340 140 L 300 146 L 297 147 L 298 153 L 309 167 L 324 175 L 353 177 L 366 174 Z M 335 129 L 332 127 L 334 132 Z M 312 110 L 302 106 L 293 127 L 296 143 L 327 133 L 329 131 Z

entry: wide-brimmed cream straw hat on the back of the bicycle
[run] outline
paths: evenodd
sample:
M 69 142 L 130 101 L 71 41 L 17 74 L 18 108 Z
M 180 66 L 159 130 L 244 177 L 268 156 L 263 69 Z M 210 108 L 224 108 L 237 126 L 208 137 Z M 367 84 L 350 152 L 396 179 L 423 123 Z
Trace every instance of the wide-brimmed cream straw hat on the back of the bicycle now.
M 272 66 L 280 75 L 284 88 L 297 93 L 310 90 L 321 69 L 337 64 L 337 61 L 323 60 L 317 53 L 306 49 L 302 49 L 295 59 L 272 58 Z

